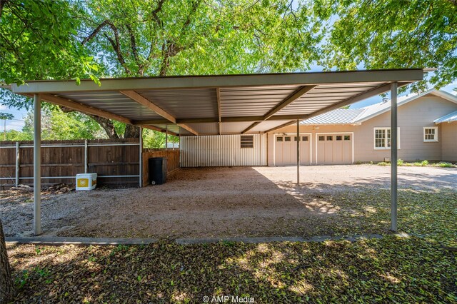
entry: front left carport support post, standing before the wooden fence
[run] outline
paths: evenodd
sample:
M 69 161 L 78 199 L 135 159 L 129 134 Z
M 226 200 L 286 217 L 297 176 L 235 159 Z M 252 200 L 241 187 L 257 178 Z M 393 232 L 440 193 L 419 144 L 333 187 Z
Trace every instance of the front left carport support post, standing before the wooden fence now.
M 41 233 L 41 101 L 34 95 L 34 235 Z

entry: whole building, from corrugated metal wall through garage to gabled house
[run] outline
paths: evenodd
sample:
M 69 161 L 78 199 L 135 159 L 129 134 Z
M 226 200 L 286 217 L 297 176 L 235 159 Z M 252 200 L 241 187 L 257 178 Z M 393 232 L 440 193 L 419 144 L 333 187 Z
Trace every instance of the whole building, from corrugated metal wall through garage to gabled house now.
M 389 161 L 391 102 L 337 108 L 301 121 L 301 165 Z M 273 125 L 272 125 L 273 126 Z M 266 133 L 182 136 L 181 166 L 287 166 L 296 124 Z M 398 98 L 398 158 L 457 162 L 457 96 L 429 90 Z

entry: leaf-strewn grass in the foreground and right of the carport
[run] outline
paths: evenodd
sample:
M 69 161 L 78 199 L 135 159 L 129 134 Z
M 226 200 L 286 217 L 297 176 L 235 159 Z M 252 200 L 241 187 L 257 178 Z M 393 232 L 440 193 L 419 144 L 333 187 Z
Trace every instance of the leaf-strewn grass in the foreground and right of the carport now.
M 323 197 L 340 208 L 336 234 L 383 239 L 323 243 L 8 245 L 16 303 L 202 303 L 238 295 L 256 303 L 456 303 L 457 192 L 402 189 L 398 228 L 386 233 L 389 191 Z

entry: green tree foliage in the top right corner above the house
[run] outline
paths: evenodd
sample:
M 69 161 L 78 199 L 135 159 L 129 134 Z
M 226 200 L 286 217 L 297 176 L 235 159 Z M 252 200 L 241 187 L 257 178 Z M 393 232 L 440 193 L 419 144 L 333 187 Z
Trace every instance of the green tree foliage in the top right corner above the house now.
M 457 79 L 457 1 L 316 1 L 328 22 L 326 69 L 438 68 L 426 81 L 437 88 Z

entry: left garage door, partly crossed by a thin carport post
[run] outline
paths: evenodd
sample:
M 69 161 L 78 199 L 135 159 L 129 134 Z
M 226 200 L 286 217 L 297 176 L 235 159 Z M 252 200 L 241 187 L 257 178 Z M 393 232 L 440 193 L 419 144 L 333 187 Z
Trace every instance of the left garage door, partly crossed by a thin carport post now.
M 311 161 L 311 134 L 300 134 L 300 164 L 309 165 Z M 274 148 L 276 166 L 296 165 L 297 136 L 276 135 Z

